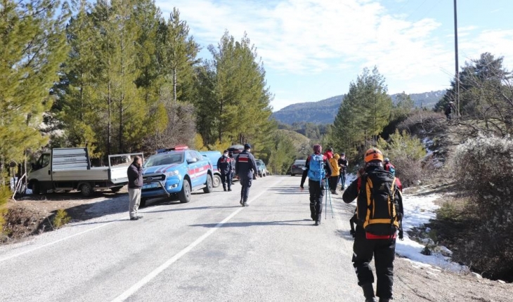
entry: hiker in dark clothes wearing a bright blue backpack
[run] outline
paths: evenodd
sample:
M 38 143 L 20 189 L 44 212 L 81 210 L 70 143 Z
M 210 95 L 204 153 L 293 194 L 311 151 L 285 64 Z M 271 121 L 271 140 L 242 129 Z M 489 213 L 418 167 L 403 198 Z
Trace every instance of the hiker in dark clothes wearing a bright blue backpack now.
M 330 163 L 327 162 L 328 159 L 322 152 L 323 148 L 320 145 L 313 145 L 313 155 L 306 159 L 301 185 L 299 185 L 299 188 L 304 190 L 306 176 L 309 177 L 310 217 L 316 222 L 316 225 L 320 225 L 320 218 L 323 214 L 326 176 L 330 176 L 332 173 Z

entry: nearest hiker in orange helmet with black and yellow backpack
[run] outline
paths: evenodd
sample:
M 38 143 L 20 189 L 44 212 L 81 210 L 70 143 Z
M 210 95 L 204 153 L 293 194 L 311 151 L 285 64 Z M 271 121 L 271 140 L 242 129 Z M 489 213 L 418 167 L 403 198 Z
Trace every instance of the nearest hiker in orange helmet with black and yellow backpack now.
M 356 199 L 356 234 L 353 266 L 366 302 L 377 302 L 370 268 L 375 258 L 379 302 L 389 302 L 394 284 L 396 232 L 403 239 L 403 196 L 396 178 L 383 169 L 383 154 L 376 148 L 365 152 L 365 171 L 345 190 L 346 203 Z M 369 194 L 370 193 L 370 194 Z

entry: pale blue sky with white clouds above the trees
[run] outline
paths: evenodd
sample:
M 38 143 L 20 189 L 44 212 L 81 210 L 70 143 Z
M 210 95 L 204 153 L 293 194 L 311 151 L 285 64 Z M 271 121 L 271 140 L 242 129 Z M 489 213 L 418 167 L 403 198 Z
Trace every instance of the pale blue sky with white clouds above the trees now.
M 264 62 L 273 110 L 347 93 L 377 66 L 389 93 L 446 89 L 455 72 L 453 0 L 157 0 L 190 34 L 217 45 L 247 32 Z M 460 66 L 483 52 L 513 67 L 511 0 L 458 0 Z

